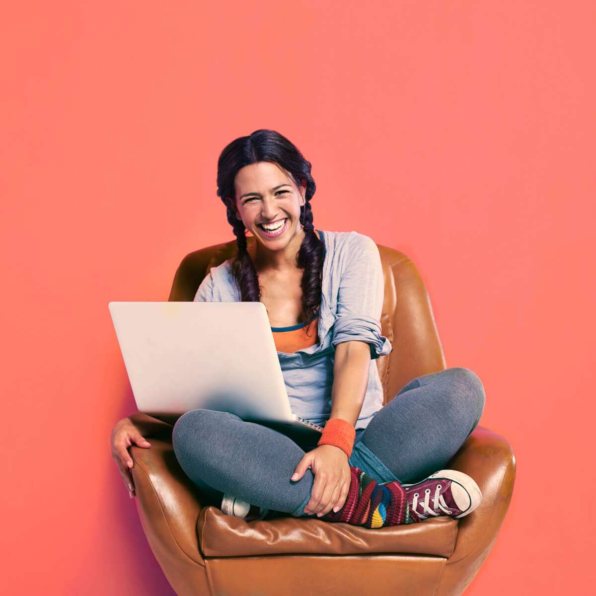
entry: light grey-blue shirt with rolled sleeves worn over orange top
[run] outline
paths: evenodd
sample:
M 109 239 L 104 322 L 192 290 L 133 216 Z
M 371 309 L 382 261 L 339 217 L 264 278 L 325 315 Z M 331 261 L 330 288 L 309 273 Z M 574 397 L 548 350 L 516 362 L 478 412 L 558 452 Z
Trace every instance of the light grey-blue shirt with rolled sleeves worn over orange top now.
M 358 340 L 371 347 L 367 392 L 356 422 L 365 429 L 383 407 L 383 387 L 376 359 L 391 352 L 381 335 L 384 280 L 381 257 L 372 238 L 359 232 L 321 231 L 325 243 L 319 342 L 294 353 L 277 352 L 294 414 L 325 426 L 331 414 L 333 361 L 338 343 Z M 240 302 L 231 271 L 234 257 L 212 267 L 195 302 Z

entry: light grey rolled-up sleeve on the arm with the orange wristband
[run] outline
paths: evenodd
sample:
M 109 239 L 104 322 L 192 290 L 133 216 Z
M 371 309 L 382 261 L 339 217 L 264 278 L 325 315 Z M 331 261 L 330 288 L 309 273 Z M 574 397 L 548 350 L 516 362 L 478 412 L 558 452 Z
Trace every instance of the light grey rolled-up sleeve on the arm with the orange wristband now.
M 342 342 L 366 342 L 370 344 L 373 360 L 391 352 L 392 345 L 381 335 L 384 293 L 383 266 L 377 244 L 356 232 L 343 260 L 336 320 L 331 331 L 334 348 Z

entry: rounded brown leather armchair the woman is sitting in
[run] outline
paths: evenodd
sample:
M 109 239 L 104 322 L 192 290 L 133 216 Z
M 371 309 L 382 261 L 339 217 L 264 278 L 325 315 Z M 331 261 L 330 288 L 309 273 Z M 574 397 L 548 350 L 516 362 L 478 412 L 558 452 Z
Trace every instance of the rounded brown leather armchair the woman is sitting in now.
M 393 346 L 378 359 L 387 403 L 412 378 L 446 364 L 414 263 L 398 250 L 378 249 L 385 279 L 381 328 Z M 235 251 L 231 241 L 188 254 L 169 300 L 193 300 L 209 269 Z M 482 491 L 482 504 L 460 520 L 378 529 L 289 514 L 245 522 L 223 514 L 188 479 L 172 449 L 172 426 L 162 424 L 151 449 L 130 449 L 132 474 L 145 535 L 179 595 L 461 594 L 495 543 L 516 475 L 507 439 L 477 426 L 444 466 L 473 477 Z

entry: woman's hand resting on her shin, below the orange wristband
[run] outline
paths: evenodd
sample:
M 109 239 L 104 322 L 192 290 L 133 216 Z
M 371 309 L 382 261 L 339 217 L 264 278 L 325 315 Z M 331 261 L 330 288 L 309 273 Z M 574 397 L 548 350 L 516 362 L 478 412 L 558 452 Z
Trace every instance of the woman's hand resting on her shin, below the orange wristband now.
M 305 513 L 316 513 L 321 517 L 331 509 L 340 510 L 346 502 L 352 480 L 345 452 L 334 445 L 319 445 L 300 460 L 291 479 L 300 480 L 308 468 L 315 474 L 315 482 L 311 500 L 304 508 Z

